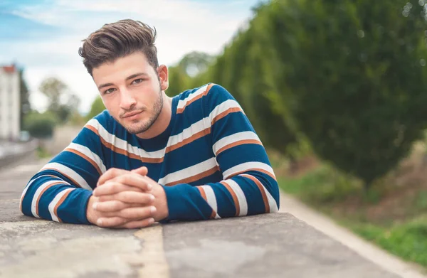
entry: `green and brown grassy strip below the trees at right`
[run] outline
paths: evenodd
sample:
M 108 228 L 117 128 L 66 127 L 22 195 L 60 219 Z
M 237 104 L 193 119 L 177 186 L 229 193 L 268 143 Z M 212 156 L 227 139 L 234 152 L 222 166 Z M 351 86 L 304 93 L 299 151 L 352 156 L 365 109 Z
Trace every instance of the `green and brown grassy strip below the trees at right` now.
M 298 176 L 280 174 L 278 183 L 366 240 L 427 267 L 427 188 L 386 181 L 366 192 L 355 178 L 324 164 Z

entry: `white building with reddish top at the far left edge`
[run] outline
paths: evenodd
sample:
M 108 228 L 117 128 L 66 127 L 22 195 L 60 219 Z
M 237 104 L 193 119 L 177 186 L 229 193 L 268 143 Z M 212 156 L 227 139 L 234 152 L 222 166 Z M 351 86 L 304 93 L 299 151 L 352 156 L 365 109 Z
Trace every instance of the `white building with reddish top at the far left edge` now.
M 19 140 L 21 73 L 15 65 L 0 66 L 0 139 Z

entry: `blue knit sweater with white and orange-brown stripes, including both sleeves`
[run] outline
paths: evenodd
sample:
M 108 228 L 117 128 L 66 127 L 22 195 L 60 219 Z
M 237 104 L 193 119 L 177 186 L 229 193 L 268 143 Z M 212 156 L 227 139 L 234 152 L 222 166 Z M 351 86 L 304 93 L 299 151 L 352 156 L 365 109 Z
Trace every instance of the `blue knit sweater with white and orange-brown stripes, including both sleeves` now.
M 163 186 L 168 220 L 206 220 L 277 212 L 279 191 L 255 130 L 233 96 L 209 83 L 173 97 L 162 134 L 140 139 L 107 110 L 34 175 L 23 190 L 23 214 L 89 224 L 88 200 L 107 169 L 147 166 Z

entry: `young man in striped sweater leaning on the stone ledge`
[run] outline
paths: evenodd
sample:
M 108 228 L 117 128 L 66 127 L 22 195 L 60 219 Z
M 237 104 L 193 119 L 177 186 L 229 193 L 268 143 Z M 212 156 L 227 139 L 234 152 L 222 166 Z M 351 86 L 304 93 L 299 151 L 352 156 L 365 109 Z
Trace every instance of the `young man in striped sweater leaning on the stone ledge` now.
M 232 95 L 207 84 L 167 97 L 156 31 L 106 24 L 79 54 L 107 108 L 24 188 L 25 215 L 108 228 L 278 211 L 268 156 Z

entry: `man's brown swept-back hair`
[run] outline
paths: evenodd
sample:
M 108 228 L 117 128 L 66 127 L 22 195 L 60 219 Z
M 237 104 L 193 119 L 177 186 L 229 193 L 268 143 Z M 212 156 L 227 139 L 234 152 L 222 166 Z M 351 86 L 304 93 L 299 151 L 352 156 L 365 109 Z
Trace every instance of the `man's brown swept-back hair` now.
M 157 32 L 141 21 L 124 19 L 108 23 L 83 40 L 78 54 L 92 75 L 93 68 L 103 63 L 111 63 L 137 51 L 144 53 L 154 70 L 159 67 L 157 48 L 154 46 Z M 157 73 L 157 71 L 156 71 Z

